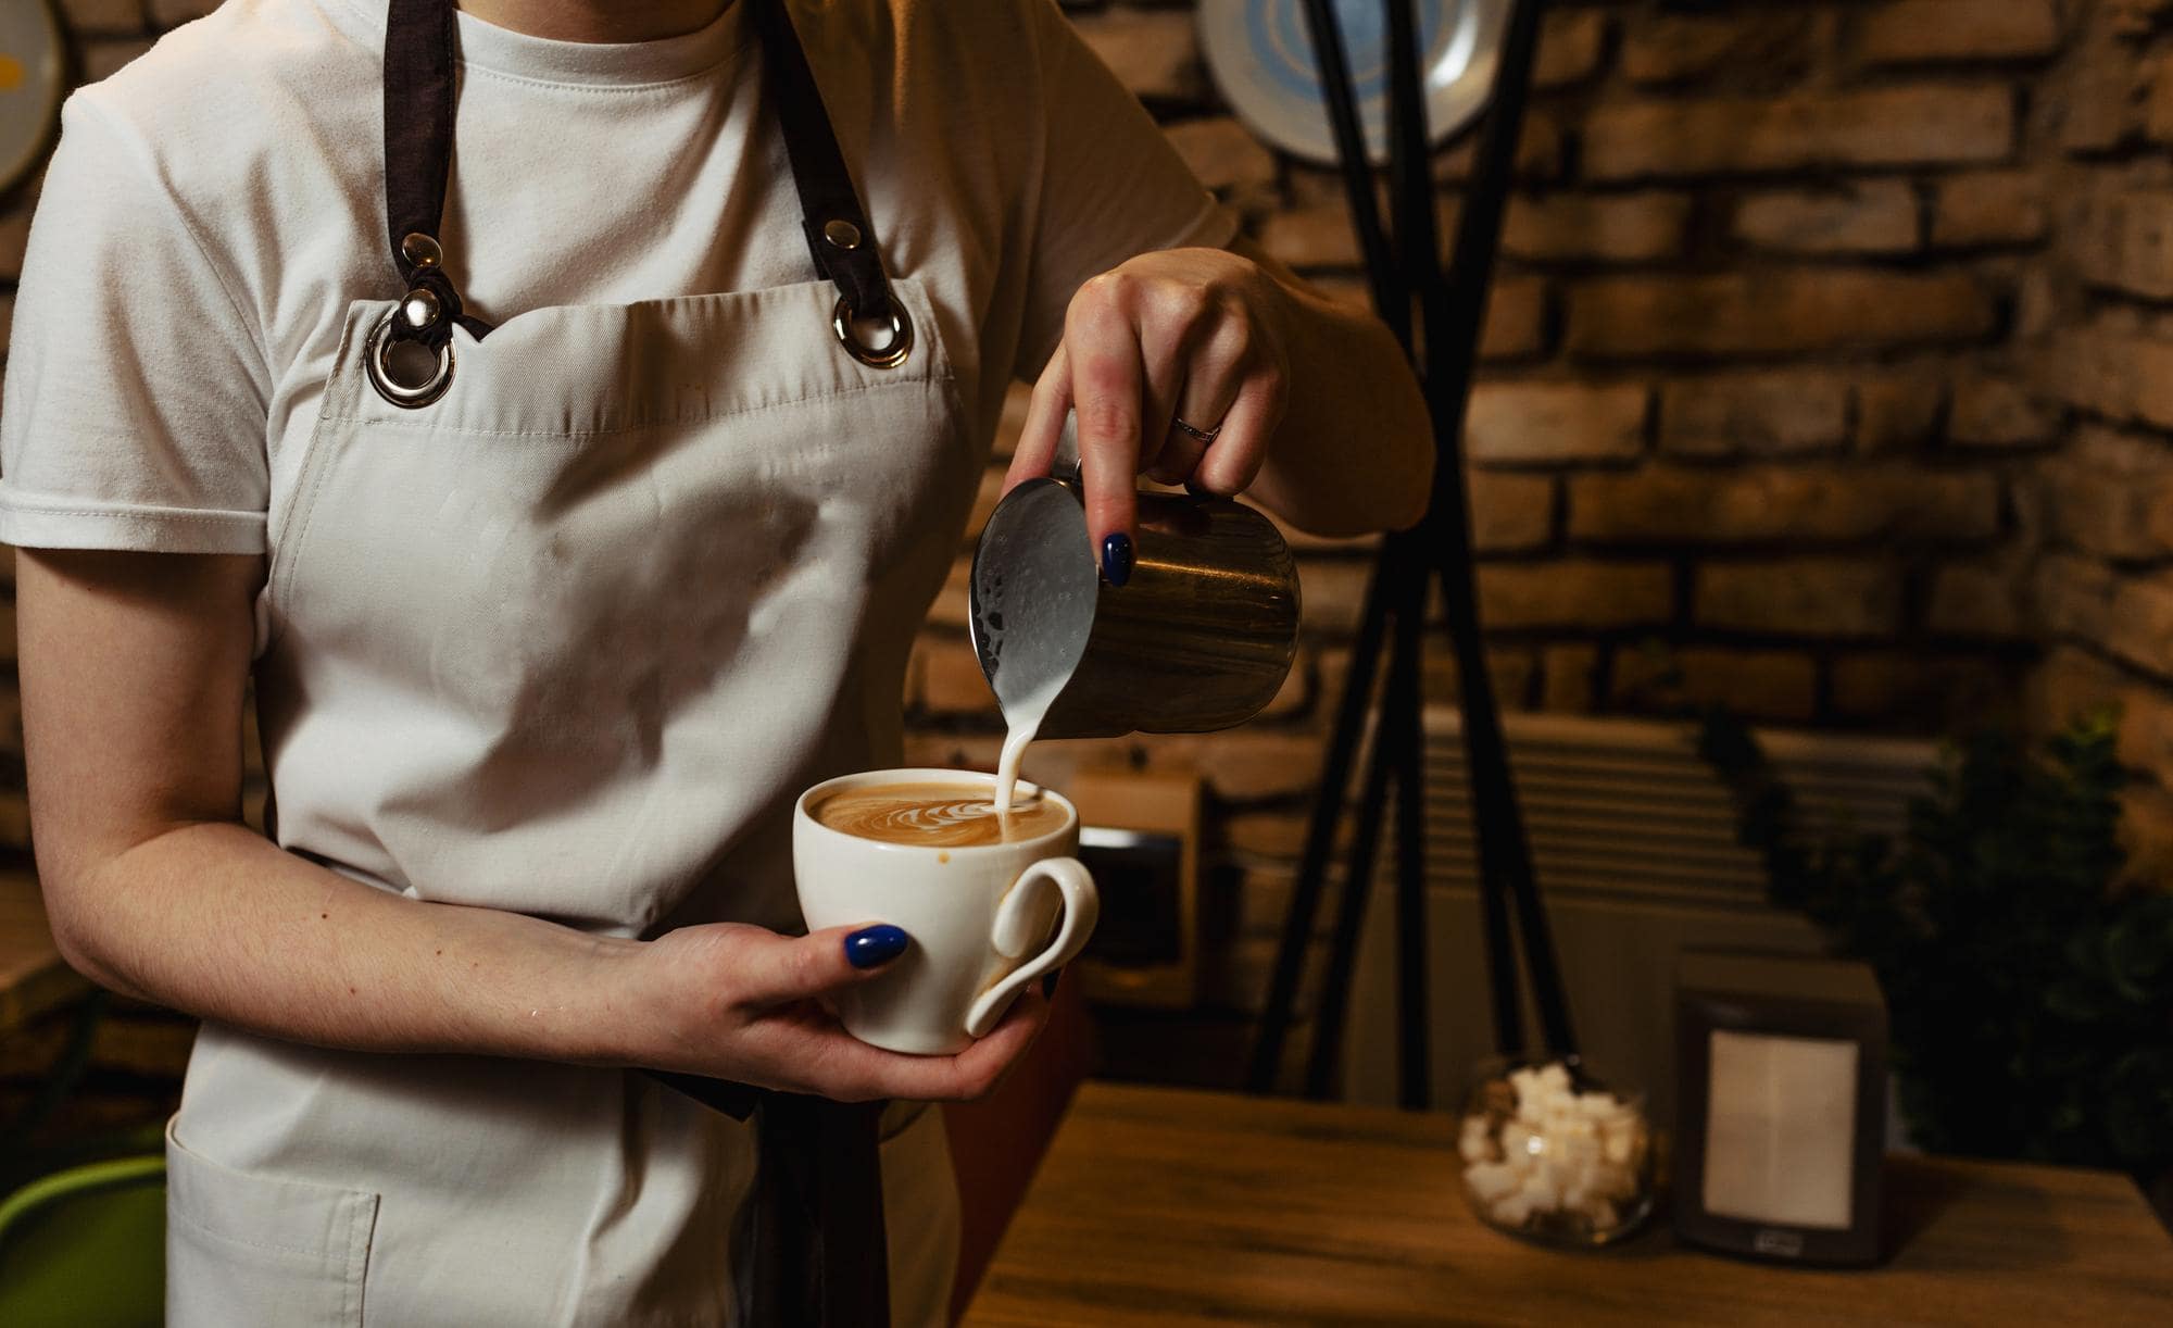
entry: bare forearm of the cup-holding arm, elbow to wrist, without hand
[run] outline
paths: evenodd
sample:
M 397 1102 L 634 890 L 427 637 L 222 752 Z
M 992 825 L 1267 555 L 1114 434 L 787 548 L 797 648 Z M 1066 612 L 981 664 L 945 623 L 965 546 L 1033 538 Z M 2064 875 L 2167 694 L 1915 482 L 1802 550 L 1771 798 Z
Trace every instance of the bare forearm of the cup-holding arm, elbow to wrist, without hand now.
M 367 1052 L 645 1061 L 641 943 L 387 893 L 239 824 L 174 826 L 48 895 L 76 967 L 204 1019 Z

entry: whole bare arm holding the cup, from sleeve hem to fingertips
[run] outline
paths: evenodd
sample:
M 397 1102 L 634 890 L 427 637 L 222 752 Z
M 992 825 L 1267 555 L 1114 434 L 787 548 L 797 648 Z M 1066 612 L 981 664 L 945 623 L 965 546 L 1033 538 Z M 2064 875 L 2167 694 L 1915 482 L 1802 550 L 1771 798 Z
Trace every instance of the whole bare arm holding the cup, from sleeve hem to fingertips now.
M 856 945 L 865 930 L 591 937 L 409 900 L 267 843 L 239 822 L 237 741 L 263 576 L 254 554 L 17 556 L 37 865 L 52 935 L 91 978 L 300 1043 L 643 1065 L 854 1102 L 978 1095 L 1032 1041 L 1039 998 L 956 1056 L 852 1039 L 819 1000 L 887 972 Z

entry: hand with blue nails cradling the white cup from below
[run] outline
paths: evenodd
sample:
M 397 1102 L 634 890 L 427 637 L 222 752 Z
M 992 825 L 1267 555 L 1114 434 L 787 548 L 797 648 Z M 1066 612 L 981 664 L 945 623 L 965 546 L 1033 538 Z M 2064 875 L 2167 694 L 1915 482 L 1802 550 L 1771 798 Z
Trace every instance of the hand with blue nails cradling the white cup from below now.
M 834 926 L 806 937 L 737 922 L 682 926 L 641 945 L 630 965 L 645 1017 L 641 1065 L 728 1078 L 837 1102 L 980 1098 L 1019 1061 L 1050 1017 L 1028 985 L 995 1030 L 954 1056 L 884 1052 L 845 1032 L 824 998 L 869 982 L 889 963 L 854 967 Z

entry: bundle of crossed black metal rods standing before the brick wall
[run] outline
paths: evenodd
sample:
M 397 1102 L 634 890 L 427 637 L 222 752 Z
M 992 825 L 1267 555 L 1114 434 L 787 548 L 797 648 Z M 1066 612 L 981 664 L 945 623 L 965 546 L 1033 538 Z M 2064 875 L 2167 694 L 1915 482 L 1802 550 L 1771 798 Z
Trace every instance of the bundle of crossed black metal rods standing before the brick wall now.
M 1410 0 L 1384 0 L 1389 33 L 1389 154 L 1395 246 L 1380 228 L 1373 172 L 1358 124 L 1343 35 L 1330 0 L 1306 0 L 1306 24 L 1328 96 L 1330 128 L 1343 163 L 1343 183 L 1367 259 L 1373 304 L 1419 365 L 1419 335 L 1412 304 L 1423 326 L 1423 385 L 1434 422 L 1434 491 L 1425 522 L 1417 530 L 1382 541 L 1367 587 L 1365 615 L 1352 648 L 1336 726 L 1328 741 L 1321 791 L 1306 828 L 1291 911 L 1284 919 L 1269 1002 L 1247 1072 L 1252 1091 L 1273 1091 L 1289 1041 L 1297 989 L 1304 978 L 1312 928 L 1326 893 L 1328 856 L 1349 793 L 1352 761 L 1360 748 L 1369 711 L 1373 715 L 1367 778 L 1358 800 L 1358 822 L 1341 880 L 1330 937 L 1328 972 L 1317 1002 L 1317 1022 L 1306 1061 L 1306 1093 L 1326 1098 L 1341 1056 L 1343 1026 L 1365 902 L 1373 880 L 1373 856 L 1389 785 L 1397 793 L 1397 1098 L 1408 1108 L 1430 1100 L 1430 1011 L 1425 993 L 1425 826 L 1423 826 L 1423 622 L 1428 591 L 1441 578 L 1449 641 L 1456 654 L 1462 704 L 1465 763 L 1471 813 L 1480 848 L 1480 906 L 1486 932 L 1486 967 L 1493 991 L 1495 1045 L 1504 1054 L 1523 1050 L 1515 930 L 1523 941 L 1523 965 L 1532 978 L 1545 1045 L 1575 1052 L 1569 1002 L 1562 993 L 1554 939 L 1532 876 L 1530 843 L 1517 791 L 1510 782 L 1502 717 L 1486 672 L 1484 637 L 1478 619 L 1478 580 L 1471 559 L 1471 515 L 1462 467 L 1462 422 L 1471 396 L 1486 298 L 1499 252 L 1502 213 L 1508 200 L 1523 107 L 1530 96 L 1538 17 L 1545 0 L 1512 0 L 1508 30 L 1495 65 L 1493 107 L 1486 115 L 1471 189 L 1458 222 L 1456 261 L 1441 272 L 1434 235 L 1432 178 L 1428 170 L 1425 109 L 1419 83 L 1417 20 Z M 1378 711 L 1369 706 L 1386 628 L 1393 624 L 1389 678 Z

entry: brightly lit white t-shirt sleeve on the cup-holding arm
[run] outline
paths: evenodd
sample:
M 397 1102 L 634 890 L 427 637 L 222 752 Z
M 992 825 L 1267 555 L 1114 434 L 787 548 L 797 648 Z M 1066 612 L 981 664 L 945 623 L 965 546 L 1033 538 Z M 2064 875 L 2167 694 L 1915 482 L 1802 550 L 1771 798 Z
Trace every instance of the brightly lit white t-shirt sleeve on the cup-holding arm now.
M 143 141 L 70 98 L 0 393 L 0 541 L 265 550 L 256 330 Z

